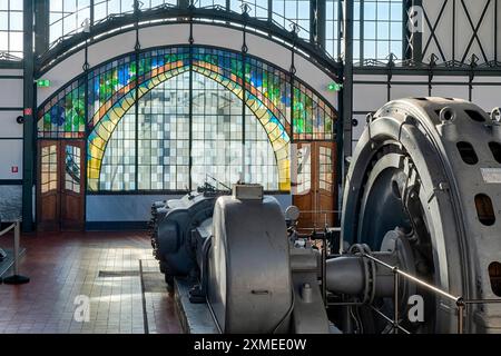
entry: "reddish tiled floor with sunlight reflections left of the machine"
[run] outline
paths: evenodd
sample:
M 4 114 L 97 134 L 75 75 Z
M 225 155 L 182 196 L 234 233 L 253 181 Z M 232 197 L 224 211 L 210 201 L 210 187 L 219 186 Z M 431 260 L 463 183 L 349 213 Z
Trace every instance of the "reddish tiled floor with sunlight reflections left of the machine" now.
M 21 246 L 20 274 L 31 281 L 0 285 L 0 333 L 180 333 L 145 233 L 33 234 Z M 89 298 L 88 322 L 75 318 L 77 296 Z

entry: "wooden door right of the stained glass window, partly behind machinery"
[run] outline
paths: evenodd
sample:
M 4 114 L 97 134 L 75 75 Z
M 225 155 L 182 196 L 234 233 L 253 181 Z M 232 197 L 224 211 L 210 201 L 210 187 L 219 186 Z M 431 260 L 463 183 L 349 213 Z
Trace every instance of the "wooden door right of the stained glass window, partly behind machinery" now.
M 335 189 L 335 144 L 302 142 L 293 149 L 296 172 L 293 184 L 293 204 L 302 211 L 298 227 L 311 230 L 334 226 Z

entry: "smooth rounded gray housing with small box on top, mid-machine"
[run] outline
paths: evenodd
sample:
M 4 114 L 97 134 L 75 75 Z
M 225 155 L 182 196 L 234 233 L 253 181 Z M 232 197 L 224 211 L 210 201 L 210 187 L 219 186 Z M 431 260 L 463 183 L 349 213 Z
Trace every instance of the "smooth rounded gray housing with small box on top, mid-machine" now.
M 292 283 L 285 218 L 273 197 L 219 197 L 213 217 L 208 303 L 223 333 L 288 325 Z

